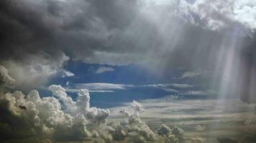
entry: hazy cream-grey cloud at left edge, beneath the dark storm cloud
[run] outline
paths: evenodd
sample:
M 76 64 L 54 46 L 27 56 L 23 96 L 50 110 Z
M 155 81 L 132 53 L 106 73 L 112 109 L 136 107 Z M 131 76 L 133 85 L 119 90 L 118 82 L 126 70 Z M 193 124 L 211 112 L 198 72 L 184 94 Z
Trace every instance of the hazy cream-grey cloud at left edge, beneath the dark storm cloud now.
M 1 60 L 9 74 L 15 79 L 18 89 L 30 90 L 47 84 L 48 80 L 61 73 L 70 59 L 63 51 L 38 51 L 25 53 L 21 59 Z

